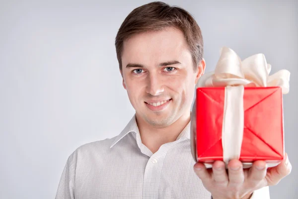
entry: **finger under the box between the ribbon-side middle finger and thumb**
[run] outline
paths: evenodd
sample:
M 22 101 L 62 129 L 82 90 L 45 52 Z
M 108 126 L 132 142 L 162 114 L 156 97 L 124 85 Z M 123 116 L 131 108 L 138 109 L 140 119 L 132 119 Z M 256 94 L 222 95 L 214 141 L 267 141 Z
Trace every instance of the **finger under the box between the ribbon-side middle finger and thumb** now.
M 266 173 L 267 166 L 265 161 L 259 160 L 254 162 L 249 169 L 246 184 L 248 184 L 249 187 L 256 187 L 260 183 L 263 183 L 263 186 L 266 186 L 266 182 L 264 181 Z

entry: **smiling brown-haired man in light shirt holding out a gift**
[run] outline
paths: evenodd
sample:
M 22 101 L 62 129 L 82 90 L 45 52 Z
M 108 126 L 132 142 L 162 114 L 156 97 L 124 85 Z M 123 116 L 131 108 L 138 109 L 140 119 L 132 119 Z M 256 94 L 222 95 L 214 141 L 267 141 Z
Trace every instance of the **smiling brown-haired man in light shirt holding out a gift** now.
M 123 87 L 136 114 L 116 137 L 69 157 L 56 199 L 269 199 L 291 172 L 287 159 L 249 170 L 232 160 L 194 163 L 190 109 L 205 70 L 200 27 L 184 9 L 152 2 L 134 9 L 116 36 Z M 195 164 L 195 165 L 194 165 Z

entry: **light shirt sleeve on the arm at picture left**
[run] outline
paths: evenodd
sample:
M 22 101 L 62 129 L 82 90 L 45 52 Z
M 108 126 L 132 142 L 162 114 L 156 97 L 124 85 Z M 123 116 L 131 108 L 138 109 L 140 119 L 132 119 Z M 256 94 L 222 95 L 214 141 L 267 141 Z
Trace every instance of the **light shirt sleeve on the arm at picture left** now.
M 66 162 L 55 199 L 74 199 L 75 156 L 73 153 Z

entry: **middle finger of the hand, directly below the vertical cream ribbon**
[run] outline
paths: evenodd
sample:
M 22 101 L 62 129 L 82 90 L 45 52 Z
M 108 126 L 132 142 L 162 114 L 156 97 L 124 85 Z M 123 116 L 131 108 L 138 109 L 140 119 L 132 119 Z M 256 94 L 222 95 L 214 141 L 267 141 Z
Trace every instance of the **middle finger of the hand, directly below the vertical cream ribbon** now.
M 228 186 L 237 189 L 244 182 L 244 173 L 242 163 L 239 160 L 231 160 L 228 165 Z

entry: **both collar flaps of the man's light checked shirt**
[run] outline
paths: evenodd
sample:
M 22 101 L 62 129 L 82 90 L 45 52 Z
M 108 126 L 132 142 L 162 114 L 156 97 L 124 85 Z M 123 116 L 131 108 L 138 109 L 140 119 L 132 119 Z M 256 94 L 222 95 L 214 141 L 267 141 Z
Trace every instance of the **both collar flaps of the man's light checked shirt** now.
M 128 122 L 126 127 L 121 131 L 121 133 L 115 138 L 113 143 L 111 144 L 110 148 L 112 148 L 117 142 L 119 142 L 122 138 L 124 138 L 127 134 L 130 132 L 135 132 L 140 134 L 137 120 L 136 120 L 136 114 L 132 117 L 132 119 Z M 182 130 L 182 132 L 179 134 L 176 140 L 179 139 L 190 139 L 190 122 L 185 126 L 185 128 Z

